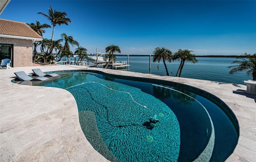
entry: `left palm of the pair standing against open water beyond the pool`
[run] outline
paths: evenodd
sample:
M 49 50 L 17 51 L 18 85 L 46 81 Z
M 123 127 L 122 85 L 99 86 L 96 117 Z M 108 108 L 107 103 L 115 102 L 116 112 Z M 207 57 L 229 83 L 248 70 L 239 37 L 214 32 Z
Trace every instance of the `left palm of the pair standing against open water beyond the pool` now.
M 167 69 L 165 61 L 168 61 L 168 62 L 172 61 L 172 51 L 170 51 L 170 50 L 168 50 L 167 48 L 164 48 L 164 47 L 162 47 L 162 48 L 156 47 L 153 54 L 154 54 L 153 62 L 156 62 L 156 61 L 160 62 L 161 60 L 163 60 L 164 67 L 165 67 L 165 70 L 166 70 L 166 76 L 169 76 L 168 69 Z

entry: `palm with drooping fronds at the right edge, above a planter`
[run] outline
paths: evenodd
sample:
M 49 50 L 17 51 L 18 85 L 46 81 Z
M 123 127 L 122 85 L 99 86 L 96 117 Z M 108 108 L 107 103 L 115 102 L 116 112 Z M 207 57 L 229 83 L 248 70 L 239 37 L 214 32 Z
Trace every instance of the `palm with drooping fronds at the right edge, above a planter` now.
M 232 64 L 238 65 L 228 66 L 228 68 L 233 68 L 232 70 L 230 70 L 229 74 L 248 70 L 246 72 L 247 76 L 252 75 L 252 80 L 256 80 L 256 53 L 244 53 L 243 56 L 245 56 L 246 58 L 236 58 L 241 60 L 235 60 L 232 62 Z

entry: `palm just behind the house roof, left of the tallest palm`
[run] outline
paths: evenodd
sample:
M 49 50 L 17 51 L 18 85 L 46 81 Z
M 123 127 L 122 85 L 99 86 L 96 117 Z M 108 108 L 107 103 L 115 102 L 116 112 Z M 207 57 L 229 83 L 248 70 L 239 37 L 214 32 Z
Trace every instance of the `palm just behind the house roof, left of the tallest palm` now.
M 40 22 L 36 21 L 36 24 L 35 23 L 26 23 L 28 26 L 30 26 L 30 28 L 32 28 L 37 34 L 39 34 L 40 36 L 43 36 L 43 33 L 45 33 L 45 30 L 43 30 L 44 28 L 51 28 L 50 25 L 48 24 L 40 24 Z M 37 54 L 37 51 L 36 51 L 36 48 L 38 46 L 38 42 L 34 42 L 33 45 L 34 45 L 34 50 L 33 50 L 33 62 L 36 61 L 36 54 Z

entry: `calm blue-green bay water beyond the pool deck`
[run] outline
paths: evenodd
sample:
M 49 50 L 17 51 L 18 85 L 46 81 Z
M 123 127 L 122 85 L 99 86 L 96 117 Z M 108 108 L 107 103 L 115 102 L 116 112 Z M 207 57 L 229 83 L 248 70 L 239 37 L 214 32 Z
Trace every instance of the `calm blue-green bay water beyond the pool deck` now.
M 116 56 L 116 61 L 127 61 L 127 56 Z M 230 75 L 229 72 L 232 68 L 228 66 L 232 64 L 236 58 L 229 57 L 196 57 L 197 63 L 185 62 L 182 69 L 181 77 L 194 78 L 201 80 L 211 80 L 215 82 L 244 84 L 244 80 L 252 80 L 252 76 L 247 76 L 246 71 L 238 72 Z M 131 72 L 150 73 L 150 56 L 129 56 L 128 68 L 126 70 Z M 159 65 L 159 68 L 158 68 Z M 169 76 L 176 76 L 177 70 L 180 66 L 180 61 L 166 62 Z M 153 62 L 151 56 L 151 74 L 166 76 L 166 70 L 162 61 Z M 245 85 L 245 84 L 244 84 Z

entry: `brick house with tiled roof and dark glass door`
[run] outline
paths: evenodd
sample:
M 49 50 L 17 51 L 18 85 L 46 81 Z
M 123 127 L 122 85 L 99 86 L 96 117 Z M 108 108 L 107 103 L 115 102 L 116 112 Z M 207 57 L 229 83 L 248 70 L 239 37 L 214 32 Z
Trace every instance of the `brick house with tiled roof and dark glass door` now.
M 33 42 L 42 39 L 26 23 L 0 18 L 0 60 L 10 58 L 12 67 L 32 66 Z

